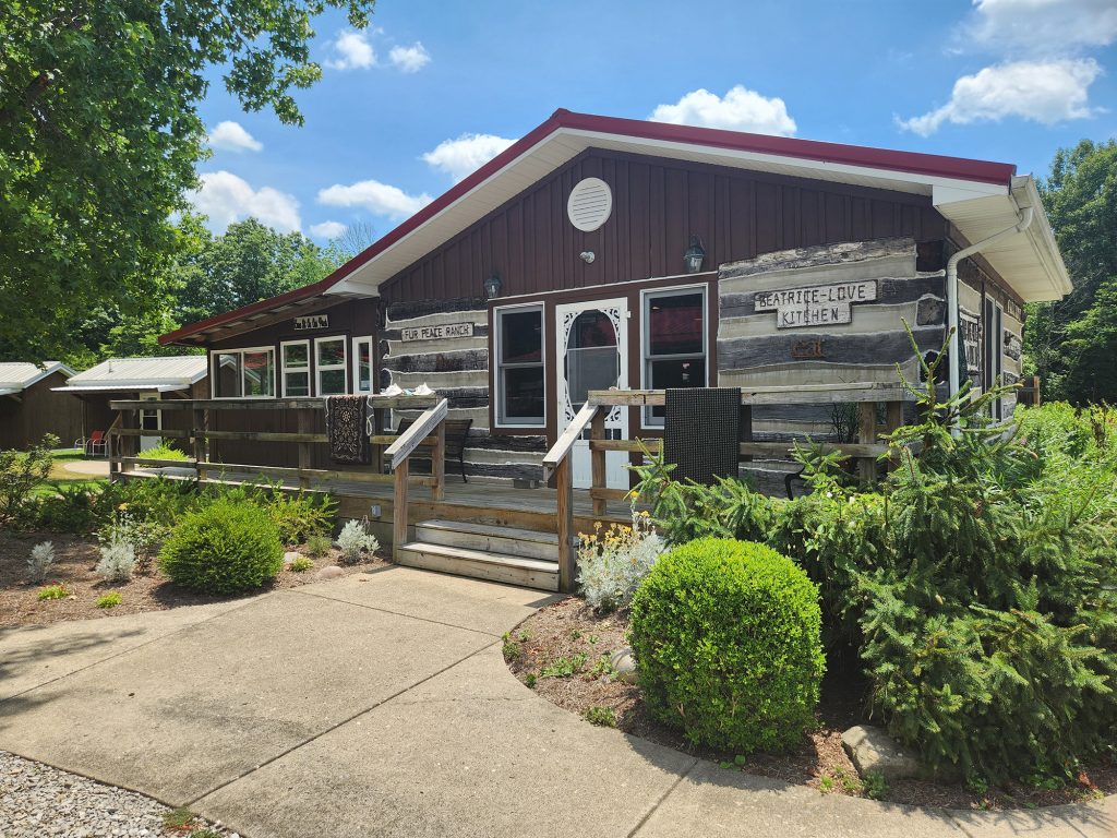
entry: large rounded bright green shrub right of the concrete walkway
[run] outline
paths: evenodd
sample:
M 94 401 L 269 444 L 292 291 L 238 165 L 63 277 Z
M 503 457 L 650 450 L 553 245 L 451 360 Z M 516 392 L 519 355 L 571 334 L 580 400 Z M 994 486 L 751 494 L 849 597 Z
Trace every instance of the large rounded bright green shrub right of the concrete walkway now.
M 824 670 L 819 592 L 771 547 L 700 539 L 636 592 L 629 639 L 652 715 L 687 739 L 748 753 L 799 743 Z

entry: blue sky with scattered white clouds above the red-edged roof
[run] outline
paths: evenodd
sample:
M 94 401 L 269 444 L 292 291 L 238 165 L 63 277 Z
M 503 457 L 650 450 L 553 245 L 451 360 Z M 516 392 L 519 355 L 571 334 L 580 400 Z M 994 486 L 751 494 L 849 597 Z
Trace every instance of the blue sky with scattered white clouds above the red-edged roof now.
M 337 13 L 316 30 L 303 127 L 212 85 L 194 201 L 213 229 L 383 235 L 557 107 L 1038 174 L 1117 136 L 1114 0 L 380 0 L 366 32 Z

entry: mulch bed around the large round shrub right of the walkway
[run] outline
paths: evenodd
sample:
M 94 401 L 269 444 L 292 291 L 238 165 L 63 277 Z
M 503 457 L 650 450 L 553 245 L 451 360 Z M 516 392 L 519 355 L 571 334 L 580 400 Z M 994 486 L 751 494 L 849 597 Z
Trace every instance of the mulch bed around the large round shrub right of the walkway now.
M 595 615 L 584 601 L 571 598 L 542 609 L 505 638 L 505 659 L 522 682 L 547 701 L 572 713 L 590 708 L 613 712 L 617 727 L 626 733 L 712 760 L 734 763 L 733 753 L 694 745 L 680 733 L 651 718 L 640 688 L 618 680 L 610 672 L 612 653 L 628 646 L 624 613 Z M 582 657 L 584 656 L 584 663 Z M 544 675 L 556 661 L 581 663 L 569 677 Z M 771 777 L 819 789 L 822 793 L 863 796 L 857 769 L 842 749 L 842 731 L 865 721 L 862 707 L 867 684 L 860 676 L 828 673 L 822 685 L 818 730 L 805 733 L 799 747 L 785 754 L 751 754 L 736 758 L 732 770 Z M 952 809 L 1013 809 L 1080 802 L 1117 792 L 1117 764 L 1107 760 L 1083 772 L 1076 785 L 1042 789 L 1021 784 L 990 789 L 975 794 L 961 783 L 906 780 L 891 783 L 886 800 Z

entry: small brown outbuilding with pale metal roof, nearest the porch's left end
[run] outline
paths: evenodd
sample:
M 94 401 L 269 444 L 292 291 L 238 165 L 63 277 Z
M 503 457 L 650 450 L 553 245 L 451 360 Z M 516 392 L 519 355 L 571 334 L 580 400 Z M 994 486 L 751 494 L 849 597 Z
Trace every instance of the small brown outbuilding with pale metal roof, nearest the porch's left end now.
M 140 450 L 157 446 L 160 431 L 180 429 L 179 422 L 188 421 L 184 411 L 164 411 L 159 402 L 166 399 L 209 398 L 206 377 L 206 355 L 172 355 L 166 358 L 111 358 L 71 378 L 56 392 L 70 393 L 85 406 L 79 436 L 89 438 L 112 427 L 116 412 L 108 402 L 114 399 L 151 401 L 150 410 L 140 413 L 141 427 L 150 430 L 140 438 Z M 182 426 L 184 428 L 185 426 Z

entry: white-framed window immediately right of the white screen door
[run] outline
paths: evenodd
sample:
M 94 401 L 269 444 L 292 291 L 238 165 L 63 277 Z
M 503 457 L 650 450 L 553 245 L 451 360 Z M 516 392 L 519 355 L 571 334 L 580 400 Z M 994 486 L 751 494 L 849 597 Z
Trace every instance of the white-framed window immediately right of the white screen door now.
M 640 296 L 643 388 L 706 387 L 706 286 L 645 291 Z M 663 427 L 663 408 L 646 407 L 643 426 Z

